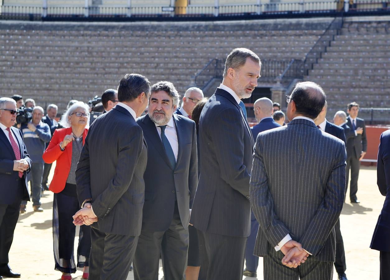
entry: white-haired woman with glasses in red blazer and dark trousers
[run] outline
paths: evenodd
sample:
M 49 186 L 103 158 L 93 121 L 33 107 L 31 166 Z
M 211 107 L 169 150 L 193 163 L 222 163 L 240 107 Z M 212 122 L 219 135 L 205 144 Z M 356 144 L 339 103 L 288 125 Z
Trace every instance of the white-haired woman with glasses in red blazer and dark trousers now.
M 53 248 L 55 269 L 62 272 L 61 280 L 71 280 L 76 272 L 74 261 L 74 237 L 76 227 L 73 214 L 80 209 L 76 192 L 76 167 L 88 129 L 89 106 L 74 103 L 62 115 L 50 144 L 43 153 L 46 163 L 57 161 L 49 190 L 53 191 Z M 77 248 L 77 266 L 84 268 L 83 279 L 89 276 L 89 253 L 91 248 L 90 227 L 82 225 Z

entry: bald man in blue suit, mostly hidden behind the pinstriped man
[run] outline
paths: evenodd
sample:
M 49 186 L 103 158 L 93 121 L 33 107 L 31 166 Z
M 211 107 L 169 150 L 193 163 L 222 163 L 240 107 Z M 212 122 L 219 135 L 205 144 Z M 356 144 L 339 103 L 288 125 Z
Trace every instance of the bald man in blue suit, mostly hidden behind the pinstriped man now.
M 273 104 L 271 99 L 263 97 L 257 99 L 253 105 L 256 121 L 259 122 L 255 126 L 250 128 L 253 139 L 257 138 L 257 135 L 268 129 L 278 128 L 280 124 L 275 122 L 272 118 Z M 257 230 L 259 230 L 259 222 L 257 222 L 255 215 L 251 211 L 250 214 L 250 236 L 246 241 L 245 249 L 245 264 L 244 275 L 248 277 L 257 277 L 257 266 L 259 265 L 259 257 L 253 254 L 255 248 L 255 241 L 257 236 Z

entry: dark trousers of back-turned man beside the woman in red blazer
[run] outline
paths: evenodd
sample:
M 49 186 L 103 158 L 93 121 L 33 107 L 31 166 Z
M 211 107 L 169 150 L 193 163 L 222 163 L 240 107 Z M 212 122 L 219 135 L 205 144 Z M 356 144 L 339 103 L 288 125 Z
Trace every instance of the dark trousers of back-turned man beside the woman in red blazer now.
M 92 228 L 89 279 L 126 280 L 138 236 L 101 232 Z

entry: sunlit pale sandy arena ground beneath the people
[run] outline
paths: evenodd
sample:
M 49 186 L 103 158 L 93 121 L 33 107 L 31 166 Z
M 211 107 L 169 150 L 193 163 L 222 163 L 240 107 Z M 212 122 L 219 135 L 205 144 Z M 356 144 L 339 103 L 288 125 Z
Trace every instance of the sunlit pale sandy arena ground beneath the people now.
M 53 170 L 54 166 L 51 169 L 51 176 Z M 358 186 L 358 198 L 361 203 L 350 204 L 347 198 L 340 217 L 346 251 L 346 275 L 349 280 L 379 279 L 379 252 L 369 248 L 372 232 L 384 201 L 376 186 L 376 167 L 360 169 Z M 9 254 L 9 264 L 14 271 L 21 273 L 21 279 L 57 280 L 61 277 L 61 273 L 54 270 L 52 202 L 53 193 L 45 191 L 42 197 L 43 213 L 34 213 L 32 203 L 28 202 L 27 212 L 20 214 Z M 77 239 L 76 237 L 75 248 Z M 262 269 L 260 259 L 257 270 L 259 280 L 263 279 Z M 73 279 L 81 279 L 81 276 L 82 271 L 79 270 L 73 275 Z M 127 279 L 134 279 L 132 271 Z M 163 279 L 161 261 L 159 279 Z M 333 279 L 337 279 L 337 274 L 333 275 Z

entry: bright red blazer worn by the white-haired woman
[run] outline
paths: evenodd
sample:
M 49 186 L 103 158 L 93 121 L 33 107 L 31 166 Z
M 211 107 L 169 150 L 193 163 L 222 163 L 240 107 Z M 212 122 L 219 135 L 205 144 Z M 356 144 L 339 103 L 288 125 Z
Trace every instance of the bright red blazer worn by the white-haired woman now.
M 61 151 L 60 142 L 65 138 L 65 135 L 71 134 L 72 128 L 60 128 L 54 131 L 53 137 L 51 137 L 50 143 L 43 153 L 43 160 L 46 163 L 53 163 L 57 161 L 53 180 L 51 180 L 49 190 L 53 193 L 59 193 L 65 188 L 66 179 L 68 178 L 69 171 L 71 170 L 72 163 L 72 145 L 69 143 L 66 145 L 65 150 Z M 85 137 L 87 136 L 88 129 L 84 129 L 83 133 L 83 145 Z

